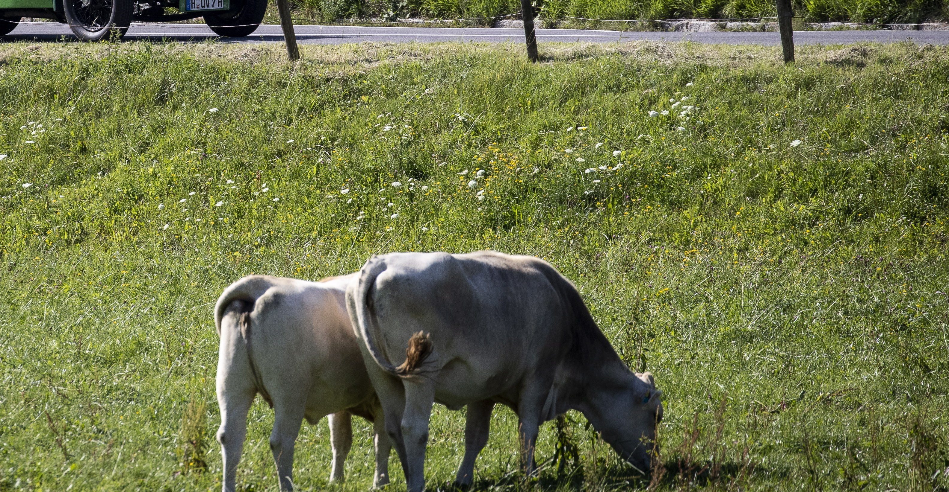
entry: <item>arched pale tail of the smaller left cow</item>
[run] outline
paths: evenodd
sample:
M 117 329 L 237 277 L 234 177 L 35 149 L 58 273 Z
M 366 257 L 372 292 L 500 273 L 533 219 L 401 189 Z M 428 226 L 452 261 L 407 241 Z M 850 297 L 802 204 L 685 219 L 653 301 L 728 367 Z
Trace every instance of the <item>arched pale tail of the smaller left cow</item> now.
M 273 400 L 270 399 L 270 393 L 264 388 L 264 381 L 260 377 L 260 371 L 257 370 L 257 365 L 254 363 L 251 354 L 251 312 L 257 299 L 263 296 L 271 286 L 273 286 L 273 283 L 270 282 L 270 279 L 257 275 L 244 277 L 237 282 L 233 282 L 228 288 L 224 289 L 221 297 L 217 298 L 214 305 L 214 326 L 217 328 L 218 336 L 221 335 L 222 329 L 233 330 L 237 332 L 235 335 L 239 335 L 244 340 L 251 365 L 254 387 L 272 408 Z M 227 326 L 222 327 L 221 322 L 225 318 L 224 315 L 229 311 L 236 311 L 234 314 L 237 316 L 229 318 L 234 319 L 235 323 L 231 326 L 231 323 L 228 322 Z

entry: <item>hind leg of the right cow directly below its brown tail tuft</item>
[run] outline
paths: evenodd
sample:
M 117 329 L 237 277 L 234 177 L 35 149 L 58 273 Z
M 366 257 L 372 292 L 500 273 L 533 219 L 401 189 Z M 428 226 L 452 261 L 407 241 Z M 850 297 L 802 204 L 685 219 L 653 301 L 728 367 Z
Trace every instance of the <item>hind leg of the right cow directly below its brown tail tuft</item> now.
M 405 410 L 401 434 L 405 446 L 405 482 L 408 492 L 425 490 L 425 446 L 428 445 L 428 421 L 435 404 L 435 382 L 424 376 L 402 379 Z

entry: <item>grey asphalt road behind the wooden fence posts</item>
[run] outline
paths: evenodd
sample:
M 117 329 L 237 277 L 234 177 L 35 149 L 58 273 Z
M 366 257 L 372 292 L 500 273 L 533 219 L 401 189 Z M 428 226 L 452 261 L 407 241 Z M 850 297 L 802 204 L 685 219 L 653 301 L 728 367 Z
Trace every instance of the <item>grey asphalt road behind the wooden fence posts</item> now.
M 436 43 L 443 41 L 476 41 L 491 43 L 523 43 L 524 30 L 519 28 L 456 28 L 456 27 L 352 27 L 297 26 L 301 44 L 338 45 L 367 41 L 388 43 Z M 57 23 L 23 23 L 3 41 L 71 41 L 69 28 Z M 140 24 L 132 26 L 126 39 L 140 41 L 198 42 L 216 39 L 223 43 L 282 42 L 279 26 L 261 26 L 245 38 L 219 38 L 207 26 L 199 24 Z M 629 32 L 586 29 L 537 29 L 537 40 L 545 42 L 618 41 L 692 41 L 726 45 L 780 45 L 777 32 Z M 919 44 L 949 45 L 949 30 L 835 30 L 795 31 L 794 43 L 799 45 L 845 45 L 864 41 L 896 43 L 912 40 Z

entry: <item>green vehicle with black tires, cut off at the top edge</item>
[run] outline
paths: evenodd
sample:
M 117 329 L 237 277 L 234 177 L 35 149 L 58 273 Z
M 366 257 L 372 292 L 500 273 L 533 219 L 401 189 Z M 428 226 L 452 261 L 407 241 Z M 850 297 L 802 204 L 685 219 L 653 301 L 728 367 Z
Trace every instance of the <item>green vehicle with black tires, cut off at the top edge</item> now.
M 135 22 L 204 17 L 219 36 L 248 36 L 260 25 L 267 0 L 0 0 L 0 36 L 24 17 L 53 19 L 83 41 L 121 38 Z

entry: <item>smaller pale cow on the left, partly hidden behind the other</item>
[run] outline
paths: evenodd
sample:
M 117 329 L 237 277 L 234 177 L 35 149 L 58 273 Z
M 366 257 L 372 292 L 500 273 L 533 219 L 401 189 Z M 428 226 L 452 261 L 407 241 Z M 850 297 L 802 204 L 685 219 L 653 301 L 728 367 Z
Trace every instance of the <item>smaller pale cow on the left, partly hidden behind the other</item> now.
M 293 442 L 303 419 L 316 424 L 325 415 L 333 447 L 330 482 L 343 480 L 352 445 L 350 414 L 355 414 L 374 423 L 373 483 L 389 483 L 391 445 L 345 308 L 345 288 L 355 277 L 306 282 L 251 275 L 233 282 L 217 300 L 217 441 L 224 457 L 224 492 L 235 490 L 247 413 L 257 393 L 275 413 L 270 449 L 281 490 L 293 487 Z

